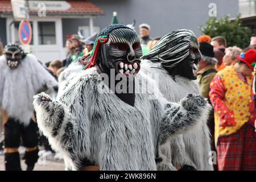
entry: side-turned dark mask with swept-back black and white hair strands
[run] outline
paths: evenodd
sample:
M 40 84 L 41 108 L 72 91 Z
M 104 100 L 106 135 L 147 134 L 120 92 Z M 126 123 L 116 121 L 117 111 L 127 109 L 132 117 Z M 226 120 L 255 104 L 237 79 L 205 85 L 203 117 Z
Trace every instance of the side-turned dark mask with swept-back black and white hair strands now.
M 141 57 L 161 63 L 171 75 L 196 80 L 201 53 L 191 30 L 177 30 L 163 36 L 150 52 Z

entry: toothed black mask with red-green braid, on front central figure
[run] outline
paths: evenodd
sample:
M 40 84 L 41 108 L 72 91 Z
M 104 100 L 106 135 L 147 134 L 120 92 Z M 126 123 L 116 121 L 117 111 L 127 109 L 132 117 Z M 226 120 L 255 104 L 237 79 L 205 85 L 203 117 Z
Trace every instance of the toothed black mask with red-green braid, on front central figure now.
M 122 24 L 112 24 L 98 35 L 90 64 L 93 65 L 95 60 L 104 69 L 115 69 L 115 73 L 129 76 L 139 72 L 141 56 L 142 48 L 136 32 Z

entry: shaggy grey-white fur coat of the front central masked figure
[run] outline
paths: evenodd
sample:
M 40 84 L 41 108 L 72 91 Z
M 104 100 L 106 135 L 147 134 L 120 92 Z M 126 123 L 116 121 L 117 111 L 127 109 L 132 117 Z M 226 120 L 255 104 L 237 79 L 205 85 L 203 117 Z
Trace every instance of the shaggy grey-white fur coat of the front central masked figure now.
M 201 125 L 209 113 L 210 105 L 201 96 L 167 102 L 143 74 L 135 78 L 134 106 L 105 92 L 108 86 L 95 67 L 68 81 L 56 101 L 42 101 L 49 96 L 41 93 L 33 103 L 38 126 L 64 155 L 66 169 L 79 169 L 86 158 L 101 170 L 156 170 L 158 146 Z M 152 85 L 139 92 L 146 84 Z

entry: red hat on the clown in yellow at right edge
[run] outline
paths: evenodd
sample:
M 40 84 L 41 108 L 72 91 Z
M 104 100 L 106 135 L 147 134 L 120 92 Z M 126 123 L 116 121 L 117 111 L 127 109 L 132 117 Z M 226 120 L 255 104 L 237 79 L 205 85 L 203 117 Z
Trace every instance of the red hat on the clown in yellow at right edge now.
M 256 64 L 256 49 L 249 49 L 246 52 L 242 52 L 237 56 L 237 59 L 243 61 L 251 69 L 255 67 Z

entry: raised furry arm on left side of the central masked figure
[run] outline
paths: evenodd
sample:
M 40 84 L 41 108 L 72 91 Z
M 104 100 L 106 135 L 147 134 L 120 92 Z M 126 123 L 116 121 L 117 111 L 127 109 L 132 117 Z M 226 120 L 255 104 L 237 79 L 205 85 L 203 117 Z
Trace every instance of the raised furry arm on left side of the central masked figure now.
M 76 158 L 73 148 L 77 146 L 76 123 L 72 121 L 67 106 L 53 101 L 46 93 L 34 96 L 33 102 L 38 127 L 48 138 L 54 150 L 69 159 Z M 76 160 L 78 161 L 78 160 Z M 75 164 L 75 162 L 73 162 Z M 79 163 L 67 168 L 76 169 Z

